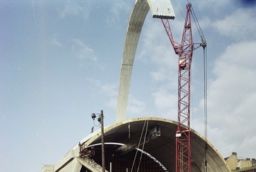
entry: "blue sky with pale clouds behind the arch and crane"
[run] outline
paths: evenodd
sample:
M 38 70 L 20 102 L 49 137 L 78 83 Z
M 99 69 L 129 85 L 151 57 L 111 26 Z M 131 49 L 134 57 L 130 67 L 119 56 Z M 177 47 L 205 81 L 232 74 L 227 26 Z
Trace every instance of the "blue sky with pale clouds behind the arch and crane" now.
M 207 41 L 208 140 L 223 157 L 256 157 L 256 3 L 190 1 Z M 172 1 L 174 40 L 185 6 Z M 116 121 L 125 34 L 134 0 L 0 0 L 0 169 L 41 171 L 91 132 L 91 113 Z M 193 21 L 194 23 L 194 21 Z M 193 40 L 201 43 L 192 25 Z M 177 121 L 178 58 L 147 15 L 127 119 Z M 203 49 L 192 59 L 191 128 L 205 135 Z M 96 123 L 97 124 L 97 123 Z M 95 129 L 99 129 L 95 127 Z

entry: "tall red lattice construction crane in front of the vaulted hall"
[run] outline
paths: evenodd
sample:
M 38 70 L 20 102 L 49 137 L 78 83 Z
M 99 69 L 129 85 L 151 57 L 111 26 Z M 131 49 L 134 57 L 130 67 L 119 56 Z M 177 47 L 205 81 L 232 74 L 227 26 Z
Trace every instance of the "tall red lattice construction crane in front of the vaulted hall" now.
M 187 14 L 181 44 L 174 42 L 170 27 L 170 19 L 161 19 L 165 31 L 172 43 L 174 52 L 179 57 L 179 91 L 178 91 L 178 128 L 176 131 L 176 172 L 191 172 L 191 134 L 190 134 L 190 68 L 194 49 L 203 47 L 205 56 L 206 41 L 199 26 L 199 22 L 194 15 L 192 4 L 188 3 Z M 196 44 L 192 39 L 191 16 L 194 18 L 196 28 L 201 36 L 201 43 Z M 207 139 L 205 139 L 207 148 Z M 206 150 L 205 150 L 206 151 Z M 206 155 L 206 153 L 205 153 Z M 205 156 L 205 168 L 207 161 Z

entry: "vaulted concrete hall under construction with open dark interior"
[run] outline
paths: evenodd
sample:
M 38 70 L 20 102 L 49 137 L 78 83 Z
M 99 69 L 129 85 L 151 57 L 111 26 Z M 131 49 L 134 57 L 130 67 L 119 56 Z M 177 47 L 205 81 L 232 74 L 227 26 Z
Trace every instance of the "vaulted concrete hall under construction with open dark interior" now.
M 106 171 L 175 171 L 177 123 L 168 119 L 140 117 L 104 128 Z M 101 131 L 92 132 L 46 171 L 102 171 Z M 230 171 L 227 162 L 210 142 L 208 171 Z M 192 171 L 205 169 L 205 139 L 192 130 Z

